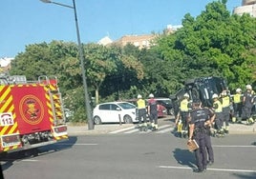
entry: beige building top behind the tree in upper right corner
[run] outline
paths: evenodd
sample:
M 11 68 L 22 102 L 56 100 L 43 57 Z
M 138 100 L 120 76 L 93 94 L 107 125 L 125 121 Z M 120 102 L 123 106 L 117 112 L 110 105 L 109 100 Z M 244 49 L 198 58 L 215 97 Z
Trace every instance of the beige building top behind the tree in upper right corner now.
M 256 0 L 243 0 L 242 6 L 236 7 L 233 13 L 238 15 L 248 13 L 250 16 L 256 17 Z

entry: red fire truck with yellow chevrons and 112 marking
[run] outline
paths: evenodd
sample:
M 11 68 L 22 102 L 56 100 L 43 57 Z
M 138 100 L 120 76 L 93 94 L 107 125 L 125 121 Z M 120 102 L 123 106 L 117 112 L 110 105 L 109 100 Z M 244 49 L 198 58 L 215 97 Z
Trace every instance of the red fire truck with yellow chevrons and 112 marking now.
M 56 77 L 0 76 L 0 154 L 68 140 Z

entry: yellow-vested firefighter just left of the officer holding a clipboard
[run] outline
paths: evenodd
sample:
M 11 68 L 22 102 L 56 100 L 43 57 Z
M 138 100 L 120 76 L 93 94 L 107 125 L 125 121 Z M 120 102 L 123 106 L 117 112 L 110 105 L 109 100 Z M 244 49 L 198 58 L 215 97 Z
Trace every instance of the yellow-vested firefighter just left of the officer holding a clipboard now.
M 191 104 L 188 101 L 189 94 L 185 93 L 180 104 L 180 111 L 178 117 L 176 118 L 177 131 L 181 137 L 185 137 L 188 134 L 188 124 L 187 115 L 189 109 L 191 109 Z

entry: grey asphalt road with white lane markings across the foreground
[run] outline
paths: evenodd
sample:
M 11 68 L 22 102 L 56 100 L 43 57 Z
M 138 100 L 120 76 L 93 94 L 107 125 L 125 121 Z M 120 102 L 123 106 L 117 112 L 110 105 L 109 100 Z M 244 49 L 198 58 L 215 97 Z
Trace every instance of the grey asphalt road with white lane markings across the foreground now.
M 255 134 L 212 138 L 215 164 L 194 173 L 185 139 L 171 133 L 79 135 L 40 149 L 38 156 L 2 160 L 5 179 L 256 178 Z

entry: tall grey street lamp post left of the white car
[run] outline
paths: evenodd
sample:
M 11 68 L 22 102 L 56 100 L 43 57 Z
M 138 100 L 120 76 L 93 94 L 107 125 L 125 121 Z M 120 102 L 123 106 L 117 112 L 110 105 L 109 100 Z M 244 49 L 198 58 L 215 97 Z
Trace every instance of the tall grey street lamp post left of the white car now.
M 86 75 L 84 70 L 84 54 L 82 50 L 81 40 L 80 40 L 80 33 L 78 28 L 78 21 L 77 21 L 77 15 L 76 15 L 76 9 L 75 9 L 75 0 L 73 0 L 73 6 L 64 5 L 60 3 L 53 2 L 51 0 L 40 0 L 44 3 L 52 3 L 58 6 L 70 8 L 74 10 L 75 13 L 75 28 L 76 28 L 76 34 L 77 34 L 77 43 L 78 43 L 78 50 L 79 50 L 79 58 L 80 58 L 80 66 L 81 66 L 81 72 L 82 72 L 82 79 L 83 79 L 83 88 L 84 88 L 84 97 L 85 97 L 85 107 L 86 107 L 86 114 L 88 118 L 88 129 L 94 129 L 94 122 L 92 118 L 92 110 L 90 107 L 90 99 L 88 95 L 88 88 L 87 88 L 87 82 L 86 82 Z

